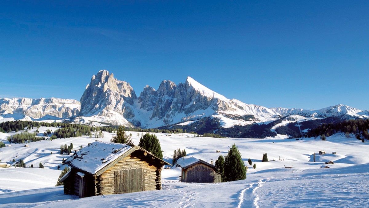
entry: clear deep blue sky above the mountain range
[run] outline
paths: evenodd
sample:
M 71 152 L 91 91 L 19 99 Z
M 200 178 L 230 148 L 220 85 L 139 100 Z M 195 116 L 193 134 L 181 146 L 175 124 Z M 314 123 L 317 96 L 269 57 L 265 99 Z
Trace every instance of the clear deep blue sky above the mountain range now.
M 369 109 L 369 1 L 0 2 L 0 97 L 191 76 L 266 107 Z

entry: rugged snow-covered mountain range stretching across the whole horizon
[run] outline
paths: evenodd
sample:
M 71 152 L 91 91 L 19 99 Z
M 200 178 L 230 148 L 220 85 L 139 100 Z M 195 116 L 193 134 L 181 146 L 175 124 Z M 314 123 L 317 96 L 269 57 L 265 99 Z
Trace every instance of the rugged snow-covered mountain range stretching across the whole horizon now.
M 164 80 L 157 90 L 146 85 L 137 97 L 128 82 L 115 79 L 106 70 L 92 76 L 80 103 L 56 98 L 4 98 L 0 99 L 0 104 L 0 115 L 20 114 L 33 119 L 46 115 L 59 118 L 77 116 L 77 123 L 96 121 L 141 128 L 188 124 L 208 116 L 219 119 L 224 127 L 270 122 L 290 115 L 307 118 L 336 116 L 341 119 L 369 117 L 368 110 L 362 111 L 346 105 L 319 110 L 250 105 L 236 99 L 227 99 L 189 76 L 184 83 L 177 85 Z

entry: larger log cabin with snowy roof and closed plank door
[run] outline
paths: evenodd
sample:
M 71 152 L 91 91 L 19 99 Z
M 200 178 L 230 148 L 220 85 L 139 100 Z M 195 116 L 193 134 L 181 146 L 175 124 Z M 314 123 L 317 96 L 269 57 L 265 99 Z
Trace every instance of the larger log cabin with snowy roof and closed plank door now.
M 169 163 L 130 144 L 95 141 L 67 158 L 64 194 L 82 197 L 160 190 L 161 170 Z

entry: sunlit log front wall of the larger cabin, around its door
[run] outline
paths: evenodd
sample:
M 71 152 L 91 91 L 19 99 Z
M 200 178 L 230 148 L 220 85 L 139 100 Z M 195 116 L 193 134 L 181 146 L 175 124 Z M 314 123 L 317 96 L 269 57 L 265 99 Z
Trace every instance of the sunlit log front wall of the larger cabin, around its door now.
M 144 191 L 159 190 L 161 189 L 161 167 L 160 161 L 149 154 L 145 156 L 144 152 L 135 151 L 96 177 L 96 195 L 115 194 L 115 172 L 136 168 L 142 168 L 144 171 Z

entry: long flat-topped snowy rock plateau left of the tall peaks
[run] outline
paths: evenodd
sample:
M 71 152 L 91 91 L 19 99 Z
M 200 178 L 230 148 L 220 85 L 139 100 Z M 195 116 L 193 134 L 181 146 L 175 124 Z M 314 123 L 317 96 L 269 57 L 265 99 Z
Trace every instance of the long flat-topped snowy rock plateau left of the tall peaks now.
M 69 118 L 77 116 L 80 110 L 80 103 L 72 99 L 58 98 L 1 98 L 0 113 L 18 113 L 34 119 L 39 119 L 46 115 L 59 118 Z

